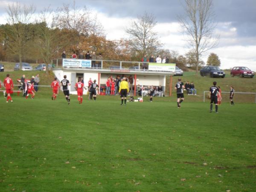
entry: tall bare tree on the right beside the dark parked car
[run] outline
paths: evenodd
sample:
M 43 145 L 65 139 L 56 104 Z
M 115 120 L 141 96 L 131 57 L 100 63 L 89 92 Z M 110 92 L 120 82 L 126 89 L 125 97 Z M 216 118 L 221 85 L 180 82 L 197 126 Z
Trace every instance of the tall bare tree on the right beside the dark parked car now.
M 187 35 L 186 40 L 196 55 L 196 75 L 199 58 L 203 52 L 218 45 L 219 36 L 214 36 L 216 23 L 212 0 L 185 0 L 185 14 L 178 16 L 178 21 Z

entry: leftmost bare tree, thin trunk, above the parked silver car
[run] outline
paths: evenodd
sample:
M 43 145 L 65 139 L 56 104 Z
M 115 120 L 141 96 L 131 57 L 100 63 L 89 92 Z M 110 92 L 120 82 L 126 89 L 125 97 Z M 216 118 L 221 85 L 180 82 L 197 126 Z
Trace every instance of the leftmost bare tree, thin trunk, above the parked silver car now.
M 19 56 L 20 69 L 22 67 L 22 57 L 26 53 L 26 42 L 29 41 L 29 23 L 32 21 L 32 15 L 35 12 L 34 6 L 21 5 L 13 3 L 8 5 L 6 36 L 8 37 L 8 49 Z

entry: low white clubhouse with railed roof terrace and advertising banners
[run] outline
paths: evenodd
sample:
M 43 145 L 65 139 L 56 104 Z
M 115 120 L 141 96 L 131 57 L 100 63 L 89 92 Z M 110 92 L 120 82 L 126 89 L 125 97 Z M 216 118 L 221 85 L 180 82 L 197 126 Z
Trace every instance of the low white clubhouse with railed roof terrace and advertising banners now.
M 95 63 L 95 66 L 94 66 Z M 92 66 L 93 65 L 93 66 Z M 138 84 L 145 86 L 161 85 L 163 89 L 166 88 L 166 76 L 173 76 L 175 73 L 175 64 L 162 63 L 146 63 L 147 69 L 143 70 L 143 63 L 129 62 L 129 61 L 91 61 L 85 59 L 63 59 L 62 66 L 57 66 L 52 69 L 59 81 L 66 75 L 70 80 L 70 93 L 76 94 L 75 84 L 78 82 L 78 77 L 84 80 L 84 86 L 88 86 L 88 81 L 96 79 L 96 83 L 101 87 L 99 94 L 104 94 L 105 85 L 108 77 L 113 76 L 113 79 L 119 76 L 130 75 L 134 78 L 134 90 Z M 87 94 L 87 90 L 84 91 Z

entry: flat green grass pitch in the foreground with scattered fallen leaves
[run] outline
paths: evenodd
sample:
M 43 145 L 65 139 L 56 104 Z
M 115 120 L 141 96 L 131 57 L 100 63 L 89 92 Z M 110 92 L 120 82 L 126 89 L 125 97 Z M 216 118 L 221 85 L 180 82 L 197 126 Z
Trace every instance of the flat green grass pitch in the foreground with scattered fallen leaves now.
M 1 192 L 256 189 L 255 104 L 50 97 L 0 99 Z

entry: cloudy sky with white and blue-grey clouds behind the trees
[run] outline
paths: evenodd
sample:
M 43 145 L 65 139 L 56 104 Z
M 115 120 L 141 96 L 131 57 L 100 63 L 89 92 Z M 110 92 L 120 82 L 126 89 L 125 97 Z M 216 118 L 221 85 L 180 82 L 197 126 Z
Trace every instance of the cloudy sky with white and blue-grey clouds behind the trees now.
M 52 9 L 72 0 L 18 0 L 33 3 L 40 12 L 44 7 Z M 177 15 L 183 13 L 183 0 L 76 0 L 78 6 L 87 6 L 97 14 L 108 39 L 127 37 L 125 28 L 137 15 L 145 11 L 154 14 L 158 22 L 155 30 L 166 49 L 184 54 L 188 51 L 180 33 Z M 6 7 L 11 0 L 0 0 L 0 23 L 6 23 Z M 213 0 L 216 34 L 220 35 L 218 47 L 210 52 L 221 59 L 221 68 L 247 66 L 256 71 L 256 0 Z M 202 58 L 205 62 L 210 52 Z

